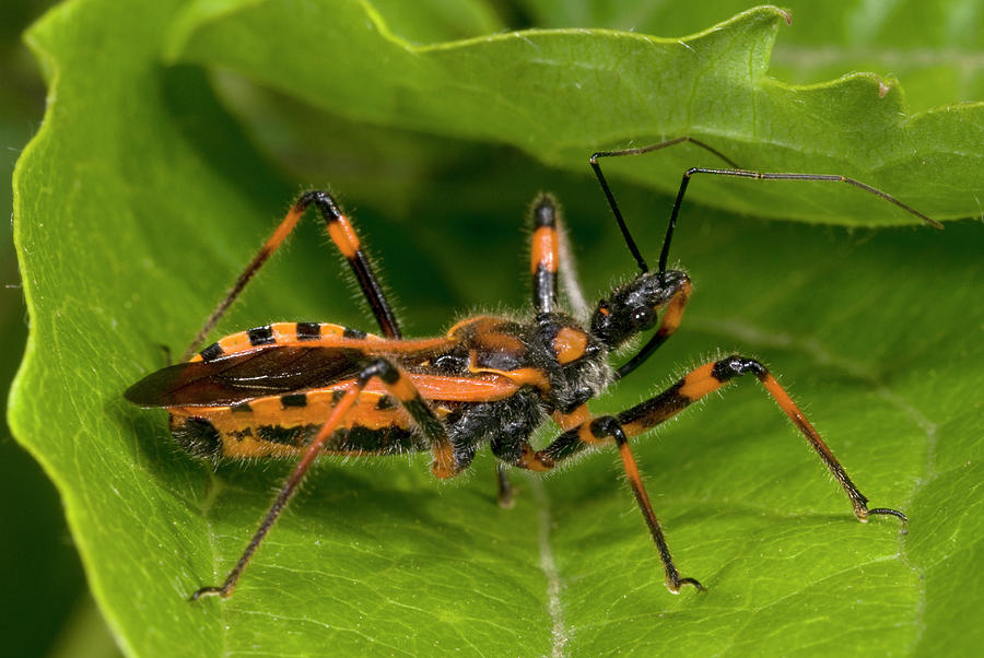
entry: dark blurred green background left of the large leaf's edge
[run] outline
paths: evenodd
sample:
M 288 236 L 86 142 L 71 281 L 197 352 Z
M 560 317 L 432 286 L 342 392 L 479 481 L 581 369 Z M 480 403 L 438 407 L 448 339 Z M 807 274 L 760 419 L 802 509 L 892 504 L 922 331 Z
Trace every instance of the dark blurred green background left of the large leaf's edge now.
M 21 149 L 31 139 L 44 113 L 45 89 L 30 51 L 20 44 L 20 33 L 48 5 L 45 1 L 4 3 L 0 21 L 0 177 L 9 180 Z M 0 186 L 0 207 L 11 207 L 11 189 Z M 0 227 L 0 389 L 3 416 L 7 392 L 23 355 L 27 337 L 17 263 L 10 223 Z M 61 501 L 37 462 L 14 442 L 4 424 L 0 427 L 0 635 L 3 651 L 11 656 L 47 654 L 62 638 L 67 624 L 80 606 L 93 611 L 78 553 L 72 545 Z M 84 603 L 82 602 L 84 601 Z M 103 627 L 108 645 L 113 639 L 96 612 L 95 627 Z

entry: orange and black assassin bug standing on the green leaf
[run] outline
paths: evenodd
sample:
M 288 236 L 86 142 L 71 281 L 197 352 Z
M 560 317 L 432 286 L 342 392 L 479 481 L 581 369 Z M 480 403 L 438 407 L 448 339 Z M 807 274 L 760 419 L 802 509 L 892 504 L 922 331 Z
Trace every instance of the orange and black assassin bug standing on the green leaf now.
M 673 202 L 658 267 L 652 271 L 601 173 L 605 157 L 641 155 L 690 142 L 728 168 L 688 169 Z M 706 363 L 665 391 L 614 415 L 593 415 L 588 401 L 642 365 L 680 326 L 691 294 L 686 272 L 667 268 L 677 216 L 696 174 L 759 180 L 841 181 L 921 218 L 937 222 L 886 192 L 843 176 L 757 173 L 741 169 L 711 146 L 689 137 L 645 148 L 606 151 L 590 157 L 625 246 L 639 272 L 575 318 L 559 303 L 558 277 L 564 266 L 557 203 L 549 195 L 532 205 L 530 259 L 532 314 L 525 321 L 477 316 L 445 336 L 402 338 L 359 236 L 336 200 L 325 191 L 303 193 L 253 258 L 195 337 L 181 363 L 160 369 L 126 391 L 141 407 L 165 408 L 177 443 L 209 458 L 295 456 L 290 474 L 242 556 L 218 586 L 191 595 L 229 597 L 263 538 L 291 500 L 312 462 L 321 454 L 391 455 L 430 451 L 431 472 L 452 478 L 489 445 L 497 466 L 500 503 L 512 500 L 506 468 L 549 471 L 585 449 L 614 445 L 639 508 L 656 544 L 666 586 L 703 590 L 680 575 L 643 486 L 629 439 L 742 375 L 752 375 L 789 416 L 847 495 L 858 520 L 871 515 L 905 515 L 868 508 L 868 498 L 847 477 L 833 453 L 773 375 L 758 361 L 731 355 Z M 335 246 L 355 274 L 382 336 L 318 322 L 277 322 L 198 348 L 269 256 L 314 205 Z M 632 338 L 649 339 L 624 364 L 609 356 Z M 548 419 L 560 426 L 541 449 L 529 437 Z

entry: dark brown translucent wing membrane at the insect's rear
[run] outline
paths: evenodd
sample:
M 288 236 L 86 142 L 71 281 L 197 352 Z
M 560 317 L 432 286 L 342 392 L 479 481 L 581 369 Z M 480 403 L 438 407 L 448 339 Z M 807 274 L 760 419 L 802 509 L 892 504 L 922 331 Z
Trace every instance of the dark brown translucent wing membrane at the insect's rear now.
M 225 407 L 330 386 L 355 376 L 364 363 L 365 352 L 349 348 L 271 346 L 172 365 L 124 396 L 141 407 Z

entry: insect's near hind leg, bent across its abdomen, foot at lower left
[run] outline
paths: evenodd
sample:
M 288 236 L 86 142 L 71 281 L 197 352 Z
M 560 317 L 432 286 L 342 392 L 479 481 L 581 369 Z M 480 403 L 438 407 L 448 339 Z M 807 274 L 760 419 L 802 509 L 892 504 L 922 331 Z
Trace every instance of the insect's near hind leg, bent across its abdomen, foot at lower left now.
M 239 556 L 236 565 L 232 568 L 225 580 L 220 586 L 202 587 L 191 595 L 190 600 L 195 601 L 203 596 L 219 595 L 223 598 L 232 595 L 236 587 L 236 583 L 246 571 L 246 566 L 253 559 L 263 538 L 277 522 L 283 508 L 296 492 L 297 485 L 304 479 L 308 468 L 323 451 L 325 444 L 331 438 L 336 428 L 339 426 L 345 414 L 352 408 L 352 404 L 359 399 L 359 393 L 368 385 L 372 379 L 379 379 L 390 395 L 396 397 L 403 409 L 410 414 L 414 425 L 421 434 L 427 439 L 431 449 L 434 453 L 434 461 L 431 465 L 431 471 L 438 478 L 448 478 L 458 472 L 456 468 L 454 451 L 450 442 L 447 438 L 447 432 L 444 425 L 431 411 L 420 392 L 410 381 L 399 367 L 385 359 L 377 359 L 365 366 L 359 374 L 354 384 L 339 399 L 338 403 L 332 408 L 328 420 L 321 425 L 318 433 L 312 439 L 307 450 L 301 457 L 297 466 L 288 478 L 277 500 L 260 521 L 259 528 L 254 532 L 253 538 L 246 545 L 246 550 Z

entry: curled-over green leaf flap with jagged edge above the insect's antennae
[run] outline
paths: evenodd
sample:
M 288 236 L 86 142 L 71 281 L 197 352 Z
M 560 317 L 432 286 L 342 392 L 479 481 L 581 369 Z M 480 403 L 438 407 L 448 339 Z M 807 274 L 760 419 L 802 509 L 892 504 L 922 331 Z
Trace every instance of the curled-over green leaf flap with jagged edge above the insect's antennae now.
M 411 46 L 363 2 L 192 2 L 169 54 L 230 69 L 340 116 L 519 148 L 583 172 L 586 153 L 690 134 L 747 168 L 835 173 L 902 193 L 938 218 L 980 211 L 984 106 L 910 115 L 897 82 L 855 73 L 789 86 L 765 75 L 788 14 L 759 8 L 688 38 L 608 31 L 505 33 Z M 721 166 L 696 149 L 611 163 L 675 191 Z M 926 171 L 935 176 L 928 179 Z M 938 177 L 937 177 L 938 176 Z M 934 183 L 934 180 L 936 183 Z M 701 180 L 694 198 L 766 216 L 850 224 L 914 221 L 822 185 Z

